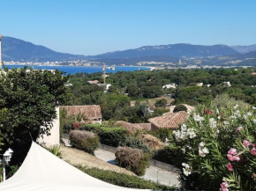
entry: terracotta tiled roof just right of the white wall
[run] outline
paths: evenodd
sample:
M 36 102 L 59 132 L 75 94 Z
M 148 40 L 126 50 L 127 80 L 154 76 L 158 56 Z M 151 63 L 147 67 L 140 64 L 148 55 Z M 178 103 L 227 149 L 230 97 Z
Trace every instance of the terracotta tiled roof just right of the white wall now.
M 88 120 L 102 118 L 102 110 L 98 105 L 91 106 L 62 106 L 60 109 L 67 111 L 67 116 L 75 114 L 84 114 Z

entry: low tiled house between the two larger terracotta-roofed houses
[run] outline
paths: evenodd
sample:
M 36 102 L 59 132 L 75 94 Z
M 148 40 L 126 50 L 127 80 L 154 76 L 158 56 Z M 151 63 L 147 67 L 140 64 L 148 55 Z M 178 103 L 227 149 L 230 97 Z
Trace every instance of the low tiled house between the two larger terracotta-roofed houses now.
M 151 129 L 151 123 L 131 123 L 126 121 L 117 121 L 115 125 L 117 125 L 120 128 L 131 130 L 131 131 Z

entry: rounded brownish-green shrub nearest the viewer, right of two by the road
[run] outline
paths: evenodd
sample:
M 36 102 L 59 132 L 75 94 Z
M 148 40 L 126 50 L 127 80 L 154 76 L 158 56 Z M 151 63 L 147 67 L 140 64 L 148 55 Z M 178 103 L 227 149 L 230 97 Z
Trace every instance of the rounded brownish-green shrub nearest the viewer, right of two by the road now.
M 129 147 L 118 147 L 116 151 L 117 165 L 126 168 L 139 176 L 146 172 L 148 157 L 143 151 Z

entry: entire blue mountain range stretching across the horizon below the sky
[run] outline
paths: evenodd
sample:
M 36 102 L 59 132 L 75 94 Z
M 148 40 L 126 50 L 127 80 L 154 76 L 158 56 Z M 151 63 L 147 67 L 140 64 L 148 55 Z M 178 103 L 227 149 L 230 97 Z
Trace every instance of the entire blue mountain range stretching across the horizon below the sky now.
M 227 45 L 192 45 L 169 44 L 159 46 L 145 46 L 123 51 L 109 52 L 102 55 L 71 55 L 59 53 L 49 48 L 34 45 L 31 42 L 3 37 L 2 39 L 3 61 L 10 62 L 66 62 L 74 60 L 94 60 L 98 62 L 135 63 L 135 62 L 177 62 L 180 58 L 217 57 L 229 56 L 238 59 L 255 57 L 256 45 L 251 46 L 227 46 Z

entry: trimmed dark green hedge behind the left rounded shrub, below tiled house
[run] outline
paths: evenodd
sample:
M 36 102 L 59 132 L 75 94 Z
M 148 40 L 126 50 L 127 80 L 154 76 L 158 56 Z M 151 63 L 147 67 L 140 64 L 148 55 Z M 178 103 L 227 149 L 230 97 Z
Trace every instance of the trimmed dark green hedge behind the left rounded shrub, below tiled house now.
M 109 146 L 117 147 L 122 143 L 127 134 L 127 129 L 109 128 L 101 124 L 85 125 L 83 130 L 88 130 L 96 133 L 101 138 L 101 143 Z

